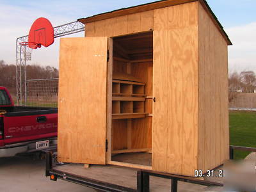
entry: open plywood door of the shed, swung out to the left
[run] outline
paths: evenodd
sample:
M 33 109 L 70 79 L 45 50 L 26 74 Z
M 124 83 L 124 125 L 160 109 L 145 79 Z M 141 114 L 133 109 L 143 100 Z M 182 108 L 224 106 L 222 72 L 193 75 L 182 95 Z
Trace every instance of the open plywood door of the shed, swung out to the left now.
M 107 37 L 61 38 L 58 160 L 106 164 Z

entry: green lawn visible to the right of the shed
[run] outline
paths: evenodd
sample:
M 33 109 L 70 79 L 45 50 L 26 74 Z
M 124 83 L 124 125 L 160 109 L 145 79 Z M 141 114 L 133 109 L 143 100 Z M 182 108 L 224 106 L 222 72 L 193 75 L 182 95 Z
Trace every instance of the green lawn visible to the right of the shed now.
M 230 145 L 256 147 L 256 112 L 230 111 Z M 243 159 L 249 152 L 235 150 L 235 159 Z

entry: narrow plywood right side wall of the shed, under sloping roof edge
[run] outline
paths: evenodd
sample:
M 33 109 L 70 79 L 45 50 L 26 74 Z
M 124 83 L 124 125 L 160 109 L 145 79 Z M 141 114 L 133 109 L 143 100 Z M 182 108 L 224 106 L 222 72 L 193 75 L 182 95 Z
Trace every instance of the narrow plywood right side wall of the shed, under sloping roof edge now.
M 198 168 L 209 170 L 228 159 L 227 42 L 199 3 Z

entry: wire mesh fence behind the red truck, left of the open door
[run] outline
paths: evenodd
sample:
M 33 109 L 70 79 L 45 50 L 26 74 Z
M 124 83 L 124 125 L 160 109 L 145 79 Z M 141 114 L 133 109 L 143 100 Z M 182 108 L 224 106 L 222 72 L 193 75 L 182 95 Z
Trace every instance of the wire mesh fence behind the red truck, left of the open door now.
M 27 80 L 25 106 L 57 108 L 58 81 L 58 78 Z

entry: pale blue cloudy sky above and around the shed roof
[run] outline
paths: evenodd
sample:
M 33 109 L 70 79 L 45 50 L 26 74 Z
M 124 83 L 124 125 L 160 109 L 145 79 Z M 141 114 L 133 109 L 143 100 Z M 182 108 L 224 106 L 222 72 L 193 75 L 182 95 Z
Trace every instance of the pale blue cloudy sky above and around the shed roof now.
M 31 24 L 38 17 L 46 17 L 51 20 L 52 26 L 59 26 L 97 13 L 150 2 L 153 1 L 0 0 L 0 60 L 8 64 L 16 63 L 16 39 L 28 35 Z M 256 1 L 208 0 L 207 3 L 234 44 L 228 47 L 228 70 L 256 72 Z M 81 32 L 65 37 L 83 35 Z M 58 68 L 59 42 L 60 38 L 55 38 L 51 46 L 33 50 L 28 64 Z

